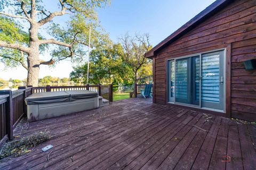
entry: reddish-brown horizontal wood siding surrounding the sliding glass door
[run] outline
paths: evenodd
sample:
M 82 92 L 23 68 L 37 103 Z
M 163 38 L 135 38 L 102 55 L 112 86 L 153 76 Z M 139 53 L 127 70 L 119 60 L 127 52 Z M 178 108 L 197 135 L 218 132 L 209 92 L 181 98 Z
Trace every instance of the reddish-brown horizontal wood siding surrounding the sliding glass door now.
M 231 46 L 231 117 L 256 120 L 256 0 L 234 1 L 155 54 L 155 102 L 166 104 L 166 60 Z

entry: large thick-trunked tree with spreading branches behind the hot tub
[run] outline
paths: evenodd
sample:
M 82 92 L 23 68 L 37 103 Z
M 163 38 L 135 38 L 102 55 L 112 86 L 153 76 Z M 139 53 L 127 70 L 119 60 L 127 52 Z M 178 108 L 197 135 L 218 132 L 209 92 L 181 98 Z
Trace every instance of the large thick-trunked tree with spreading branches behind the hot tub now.
M 3 25 L 0 27 L 2 60 L 9 61 L 7 65 L 21 64 L 28 70 L 27 85 L 37 86 L 40 65 L 52 65 L 66 58 L 75 61 L 85 54 L 83 46 L 87 45 L 89 39 L 89 25 L 95 37 L 92 38 L 92 45 L 97 43 L 100 33 L 96 30 L 98 22 L 95 8 L 103 7 L 106 3 L 108 0 L 59 0 L 61 9 L 49 12 L 42 0 L 0 0 L 0 25 Z M 53 22 L 55 17 L 66 14 L 70 16 L 65 28 Z M 53 38 L 44 39 L 40 36 L 39 29 L 49 23 L 47 30 Z M 10 27 L 7 27 L 9 24 Z M 43 61 L 39 58 L 40 49 L 49 44 L 57 45 L 58 48 L 52 50 L 51 60 Z

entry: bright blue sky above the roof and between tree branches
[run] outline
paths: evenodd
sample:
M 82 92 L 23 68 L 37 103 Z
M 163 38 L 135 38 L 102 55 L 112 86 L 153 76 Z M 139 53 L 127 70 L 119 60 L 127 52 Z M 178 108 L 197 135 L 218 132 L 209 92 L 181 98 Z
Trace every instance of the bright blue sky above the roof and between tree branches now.
M 44 0 L 44 2 L 46 8 L 51 11 L 55 10 L 53 6 L 56 6 L 58 1 Z M 149 33 L 150 43 L 156 46 L 213 2 L 214 0 L 112 0 L 110 5 L 97 11 L 102 28 L 109 33 L 113 41 L 117 42 L 118 37 L 125 33 L 130 33 L 130 35 L 135 32 Z M 63 24 L 65 18 L 59 16 L 54 21 Z M 45 31 L 42 31 L 42 35 L 50 38 Z M 49 60 L 51 54 L 46 52 L 40 57 Z M 68 78 L 69 73 L 73 71 L 73 66 L 75 65 L 70 61 L 62 61 L 55 67 L 42 65 L 39 78 L 46 75 Z M 27 71 L 22 66 L 6 69 L 0 63 L 0 78 L 22 80 L 27 78 Z

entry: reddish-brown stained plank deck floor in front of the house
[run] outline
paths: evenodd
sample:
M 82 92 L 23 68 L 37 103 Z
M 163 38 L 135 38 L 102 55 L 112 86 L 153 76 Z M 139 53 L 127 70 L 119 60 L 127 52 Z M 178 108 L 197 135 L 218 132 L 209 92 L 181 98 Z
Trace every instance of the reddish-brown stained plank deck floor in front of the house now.
M 218 116 L 206 119 L 202 113 L 153 104 L 151 99 L 115 101 L 110 106 L 26 127 L 20 123 L 14 135 L 47 129 L 52 138 L 30 154 L 0 160 L 1 169 L 256 167 L 255 125 L 237 124 Z M 53 149 L 41 151 L 49 144 Z M 223 162 L 223 156 L 230 156 L 230 162 Z

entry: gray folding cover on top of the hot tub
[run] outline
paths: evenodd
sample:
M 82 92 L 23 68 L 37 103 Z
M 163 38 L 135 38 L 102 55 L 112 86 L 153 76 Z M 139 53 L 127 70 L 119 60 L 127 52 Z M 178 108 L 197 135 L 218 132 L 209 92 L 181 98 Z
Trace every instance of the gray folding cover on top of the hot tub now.
M 97 92 L 89 90 L 52 91 L 32 94 L 25 99 L 27 105 L 48 104 L 98 97 Z

